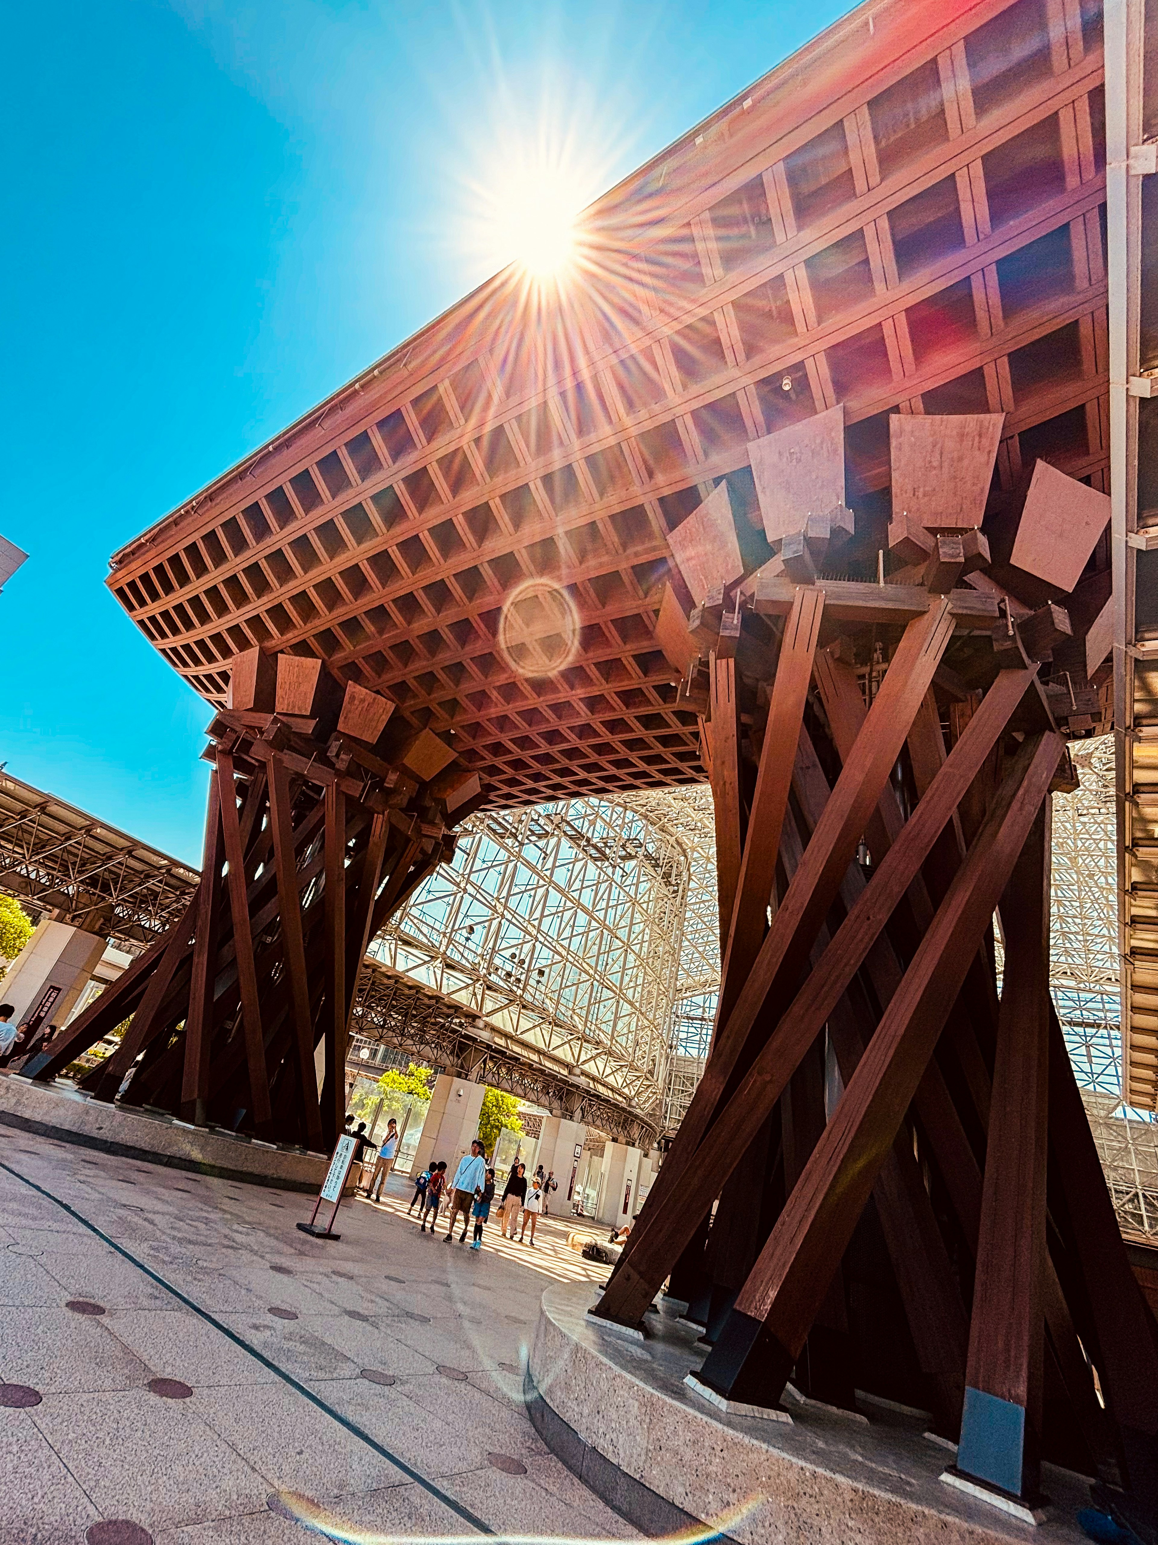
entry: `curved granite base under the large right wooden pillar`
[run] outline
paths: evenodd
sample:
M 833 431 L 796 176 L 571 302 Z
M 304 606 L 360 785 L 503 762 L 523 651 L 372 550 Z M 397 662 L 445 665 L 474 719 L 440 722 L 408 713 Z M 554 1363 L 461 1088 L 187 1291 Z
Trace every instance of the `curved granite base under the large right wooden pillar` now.
M 596 1301 L 584 1282 L 543 1293 L 528 1414 L 568 1469 L 647 1534 L 724 1522 L 741 1545 L 1085 1540 L 1081 1475 L 1044 1466 L 1044 1522 L 1021 1522 L 940 1479 L 956 1455 L 923 1437 L 920 1414 L 865 1401 L 849 1418 L 786 1400 L 789 1421 L 726 1415 L 684 1384 L 707 1355 L 692 1327 L 648 1313 L 648 1335 L 630 1340 L 587 1318 Z

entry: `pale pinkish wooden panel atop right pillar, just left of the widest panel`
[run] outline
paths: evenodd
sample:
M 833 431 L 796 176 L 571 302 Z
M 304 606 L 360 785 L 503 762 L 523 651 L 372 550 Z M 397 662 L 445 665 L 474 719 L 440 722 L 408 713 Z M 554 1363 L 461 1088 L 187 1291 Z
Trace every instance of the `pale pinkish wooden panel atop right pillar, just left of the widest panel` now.
M 845 408 L 766 434 L 747 447 L 769 542 L 800 531 L 809 514 L 845 502 Z

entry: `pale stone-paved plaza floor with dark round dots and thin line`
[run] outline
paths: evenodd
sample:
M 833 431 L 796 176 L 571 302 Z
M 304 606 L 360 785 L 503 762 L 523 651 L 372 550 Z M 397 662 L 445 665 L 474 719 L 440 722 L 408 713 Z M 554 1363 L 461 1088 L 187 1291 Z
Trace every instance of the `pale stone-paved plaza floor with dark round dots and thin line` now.
M 562 1221 L 471 1251 L 395 1180 L 320 1242 L 301 1194 L 0 1143 L 3 1545 L 633 1536 L 523 1411 L 543 1289 L 599 1275 Z

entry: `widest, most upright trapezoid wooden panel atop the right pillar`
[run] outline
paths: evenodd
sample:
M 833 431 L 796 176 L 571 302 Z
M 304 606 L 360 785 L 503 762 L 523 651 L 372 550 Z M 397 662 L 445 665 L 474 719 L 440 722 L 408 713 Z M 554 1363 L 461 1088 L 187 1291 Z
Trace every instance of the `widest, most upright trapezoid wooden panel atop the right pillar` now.
M 891 414 L 889 547 L 980 525 L 1004 422 L 1002 413 Z

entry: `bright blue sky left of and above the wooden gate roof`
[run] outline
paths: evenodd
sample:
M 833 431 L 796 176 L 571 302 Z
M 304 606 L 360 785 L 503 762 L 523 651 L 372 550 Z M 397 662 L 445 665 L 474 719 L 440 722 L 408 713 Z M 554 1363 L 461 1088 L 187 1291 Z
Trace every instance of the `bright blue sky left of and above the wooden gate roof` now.
M 594 196 L 845 9 L 9 8 L 8 771 L 198 861 L 208 709 L 108 555 L 494 272 L 520 158 Z

